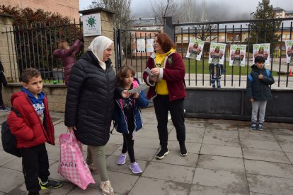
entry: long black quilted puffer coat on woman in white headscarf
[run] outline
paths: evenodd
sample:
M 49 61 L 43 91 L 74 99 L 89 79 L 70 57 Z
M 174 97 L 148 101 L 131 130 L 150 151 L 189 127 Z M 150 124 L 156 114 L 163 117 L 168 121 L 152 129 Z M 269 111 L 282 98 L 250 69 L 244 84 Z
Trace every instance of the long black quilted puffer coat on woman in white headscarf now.
M 116 77 L 111 61 L 102 69 L 93 52 L 82 55 L 71 69 L 65 108 L 65 125 L 76 126 L 77 140 L 104 146 L 110 136 Z

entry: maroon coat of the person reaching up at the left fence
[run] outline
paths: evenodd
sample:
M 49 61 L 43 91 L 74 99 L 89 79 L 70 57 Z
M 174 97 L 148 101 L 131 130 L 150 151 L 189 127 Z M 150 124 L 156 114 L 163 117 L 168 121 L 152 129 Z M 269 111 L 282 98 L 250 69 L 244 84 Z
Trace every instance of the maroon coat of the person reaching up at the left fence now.
M 84 45 L 80 40 L 76 40 L 74 45 L 69 47 L 69 49 L 56 49 L 53 52 L 55 57 L 59 57 L 62 59 L 64 66 L 64 80 L 65 85 L 68 86 L 69 75 L 71 71 L 71 67 L 76 63 L 76 54 L 81 51 L 81 47 Z

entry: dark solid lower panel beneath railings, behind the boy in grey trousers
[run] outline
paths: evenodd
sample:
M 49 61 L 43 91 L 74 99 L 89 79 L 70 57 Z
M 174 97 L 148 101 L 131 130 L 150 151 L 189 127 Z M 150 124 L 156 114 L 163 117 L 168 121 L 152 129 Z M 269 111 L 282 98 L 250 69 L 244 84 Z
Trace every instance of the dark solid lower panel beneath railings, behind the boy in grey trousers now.
M 185 100 L 187 117 L 251 120 L 251 102 L 244 89 L 188 88 Z M 265 120 L 293 123 L 293 90 L 272 90 Z

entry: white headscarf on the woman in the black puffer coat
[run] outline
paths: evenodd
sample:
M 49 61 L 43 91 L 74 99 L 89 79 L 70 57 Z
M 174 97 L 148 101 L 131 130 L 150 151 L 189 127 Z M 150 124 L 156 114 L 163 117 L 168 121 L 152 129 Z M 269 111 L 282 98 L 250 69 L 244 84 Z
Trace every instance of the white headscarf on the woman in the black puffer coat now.
M 107 49 L 111 44 L 113 44 L 113 40 L 110 40 L 105 36 L 98 36 L 91 41 L 91 45 L 88 47 L 88 49 L 96 56 L 100 62 L 100 66 L 102 66 L 103 69 L 105 69 L 103 53 L 104 50 Z

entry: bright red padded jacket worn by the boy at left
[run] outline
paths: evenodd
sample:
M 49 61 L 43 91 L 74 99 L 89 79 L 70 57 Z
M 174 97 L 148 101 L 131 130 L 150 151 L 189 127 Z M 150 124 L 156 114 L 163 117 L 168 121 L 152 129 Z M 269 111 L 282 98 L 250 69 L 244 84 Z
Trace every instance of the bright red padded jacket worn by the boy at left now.
M 21 117 L 18 117 L 15 112 L 10 112 L 7 118 L 11 134 L 16 136 L 17 148 L 38 146 L 46 141 L 54 145 L 54 126 L 46 97 L 43 102 L 44 124 L 26 93 L 21 91 L 11 96 L 11 105 L 21 114 Z

